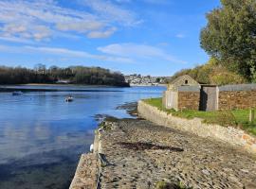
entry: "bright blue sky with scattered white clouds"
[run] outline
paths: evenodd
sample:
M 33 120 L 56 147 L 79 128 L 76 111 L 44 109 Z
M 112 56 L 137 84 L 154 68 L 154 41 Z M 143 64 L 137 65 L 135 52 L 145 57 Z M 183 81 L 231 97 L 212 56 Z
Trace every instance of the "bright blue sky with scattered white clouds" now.
M 101 66 L 172 76 L 209 60 L 199 35 L 219 0 L 0 0 L 0 65 Z

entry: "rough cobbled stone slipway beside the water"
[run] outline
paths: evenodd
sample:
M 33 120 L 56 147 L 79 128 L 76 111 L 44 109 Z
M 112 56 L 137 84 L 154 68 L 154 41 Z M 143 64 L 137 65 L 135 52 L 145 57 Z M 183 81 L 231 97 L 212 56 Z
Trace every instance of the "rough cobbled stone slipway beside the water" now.
M 256 157 L 246 151 L 146 120 L 108 125 L 100 139 L 109 162 L 101 166 L 101 188 L 155 188 L 164 180 L 186 188 L 256 189 Z

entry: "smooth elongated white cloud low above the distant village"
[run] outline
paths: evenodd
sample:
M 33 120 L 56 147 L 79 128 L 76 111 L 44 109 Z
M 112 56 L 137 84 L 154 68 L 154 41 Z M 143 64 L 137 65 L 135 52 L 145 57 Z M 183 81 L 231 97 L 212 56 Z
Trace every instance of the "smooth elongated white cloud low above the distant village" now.
M 177 60 L 172 55 L 166 53 L 161 48 L 151 45 L 136 43 L 114 43 L 107 46 L 99 47 L 99 51 L 109 55 L 119 57 L 130 57 L 134 59 L 158 59 L 168 60 L 176 63 L 185 63 L 183 60 Z

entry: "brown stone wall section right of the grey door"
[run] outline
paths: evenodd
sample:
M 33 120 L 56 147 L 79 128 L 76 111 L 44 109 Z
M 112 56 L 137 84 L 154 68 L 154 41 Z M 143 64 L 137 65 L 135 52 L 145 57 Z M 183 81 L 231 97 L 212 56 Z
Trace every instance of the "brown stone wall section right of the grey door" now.
M 218 110 L 249 109 L 256 107 L 256 90 L 220 91 Z

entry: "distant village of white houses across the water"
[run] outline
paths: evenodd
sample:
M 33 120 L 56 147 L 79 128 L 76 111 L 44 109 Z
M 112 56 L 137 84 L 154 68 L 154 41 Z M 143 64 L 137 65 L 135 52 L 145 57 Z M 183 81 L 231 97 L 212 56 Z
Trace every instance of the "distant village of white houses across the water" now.
M 151 77 L 137 74 L 125 76 L 125 82 L 131 86 L 157 86 L 167 83 L 170 77 Z

